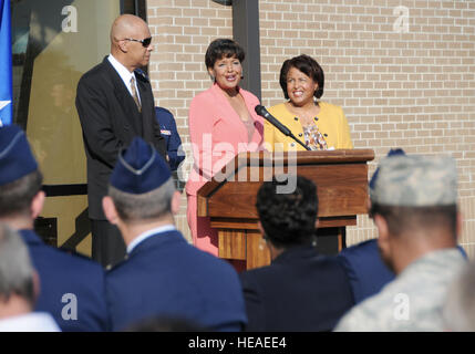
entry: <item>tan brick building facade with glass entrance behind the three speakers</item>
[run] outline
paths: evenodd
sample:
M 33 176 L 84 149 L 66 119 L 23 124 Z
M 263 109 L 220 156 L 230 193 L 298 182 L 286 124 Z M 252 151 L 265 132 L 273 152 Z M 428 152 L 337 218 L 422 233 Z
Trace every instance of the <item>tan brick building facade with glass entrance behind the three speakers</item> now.
M 475 1 L 255 1 L 261 74 L 261 92 L 256 94 L 261 104 L 283 101 L 280 66 L 286 59 L 306 53 L 323 67 L 322 100 L 343 107 L 354 147 L 374 149 L 369 177 L 394 147 L 410 154 L 454 156 L 464 215 L 459 242 L 474 256 Z M 231 38 L 236 21 L 247 20 L 233 15 L 231 2 L 11 1 L 14 121 L 27 129 L 45 185 L 52 186 L 42 217 L 58 219 L 58 246 L 90 252 L 75 84 L 109 53 L 113 19 L 121 12 L 146 18 L 155 44 L 148 66 L 155 101 L 175 115 L 186 146 L 189 103 L 211 85 L 204 60 L 207 45 L 216 38 Z M 192 164 L 188 149 L 183 179 Z M 185 196 L 177 225 L 189 238 Z M 374 237 L 366 216 L 359 216 L 358 226 L 347 229 L 348 244 Z

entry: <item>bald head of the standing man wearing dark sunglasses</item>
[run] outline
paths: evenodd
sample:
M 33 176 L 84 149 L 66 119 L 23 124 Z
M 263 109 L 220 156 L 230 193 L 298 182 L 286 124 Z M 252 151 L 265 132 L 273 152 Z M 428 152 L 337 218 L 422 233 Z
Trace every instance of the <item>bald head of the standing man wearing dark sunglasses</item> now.
M 111 28 L 111 54 L 130 72 L 148 64 L 153 45 L 143 45 L 151 38 L 147 23 L 133 14 L 115 19 Z

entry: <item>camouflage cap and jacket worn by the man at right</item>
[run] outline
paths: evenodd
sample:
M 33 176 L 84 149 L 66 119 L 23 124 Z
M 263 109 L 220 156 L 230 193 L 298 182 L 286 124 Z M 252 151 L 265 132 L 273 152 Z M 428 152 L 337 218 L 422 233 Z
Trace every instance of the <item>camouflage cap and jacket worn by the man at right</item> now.
M 379 166 L 370 186 L 371 202 L 390 207 L 456 205 L 456 179 L 451 157 L 394 155 Z M 421 256 L 379 294 L 350 310 L 334 331 L 442 331 L 446 290 L 465 263 L 456 248 Z

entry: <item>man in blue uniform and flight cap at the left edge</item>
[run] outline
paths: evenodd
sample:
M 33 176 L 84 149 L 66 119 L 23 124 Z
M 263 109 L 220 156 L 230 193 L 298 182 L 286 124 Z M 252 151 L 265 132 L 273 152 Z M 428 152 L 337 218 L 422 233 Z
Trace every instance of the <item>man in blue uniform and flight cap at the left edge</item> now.
M 40 277 L 35 311 L 49 312 L 63 331 L 105 331 L 105 277 L 95 262 L 47 246 L 33 231 L 44 201 L 42 175 L 24 133 L 0 128 L 0 221 L 19 230 Z

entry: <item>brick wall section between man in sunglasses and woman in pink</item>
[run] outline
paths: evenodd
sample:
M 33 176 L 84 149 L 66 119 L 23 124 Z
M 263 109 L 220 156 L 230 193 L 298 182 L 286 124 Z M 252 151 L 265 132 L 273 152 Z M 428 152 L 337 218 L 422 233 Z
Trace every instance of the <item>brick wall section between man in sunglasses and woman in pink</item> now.
M 157 105 L 169 110 L 183 143 L 189 143 L 188 106 L 208 88 L 205 53 L 215 38 L 233 37 L 233 10 L 209 0 L 148 0 L 147 22 L 154 37 L 149 76 Z M 190 153 L 183 170 L 189 170 Z M 177 228 L 190 240 L 186 221 L 186 197 L 182 197 Z

